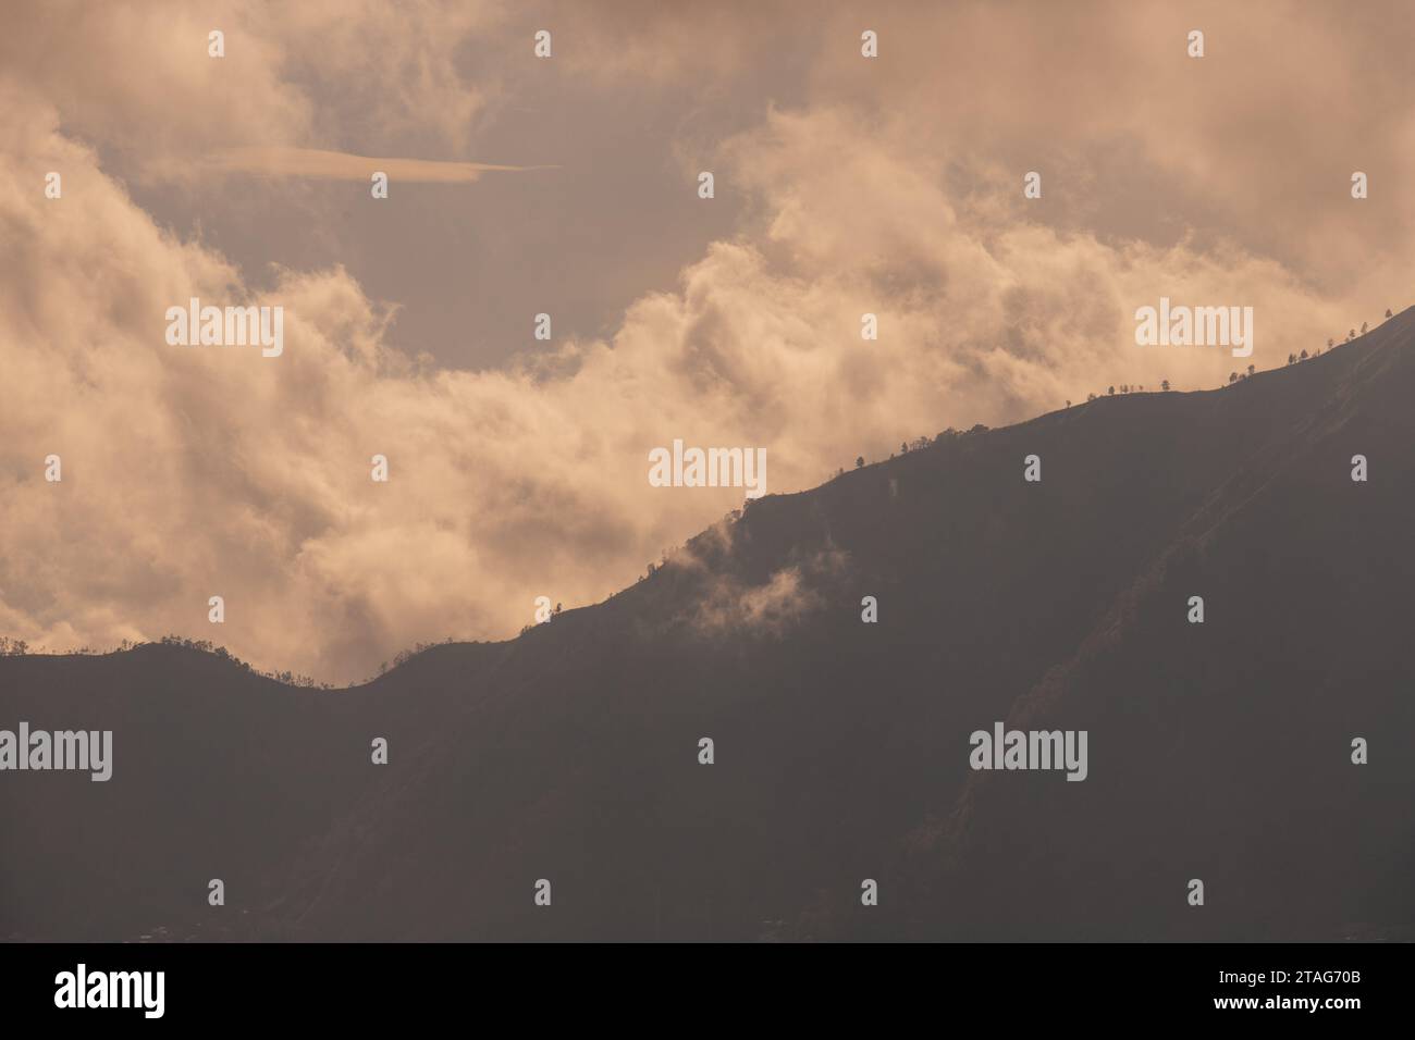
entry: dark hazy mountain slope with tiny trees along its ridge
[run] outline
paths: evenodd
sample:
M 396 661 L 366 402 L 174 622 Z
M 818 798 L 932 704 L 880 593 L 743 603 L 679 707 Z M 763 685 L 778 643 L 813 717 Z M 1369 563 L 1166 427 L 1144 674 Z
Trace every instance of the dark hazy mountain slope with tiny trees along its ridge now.
M 351 691 L 0 658 L 0 727 L 115 732 L 106 784 L 0 775 L 0 937 L 1408 938 L 1412 400 L 1405 311 L 763 498 Z M 1088 778 L 972 773 L 996 720 L 1088 730 Z

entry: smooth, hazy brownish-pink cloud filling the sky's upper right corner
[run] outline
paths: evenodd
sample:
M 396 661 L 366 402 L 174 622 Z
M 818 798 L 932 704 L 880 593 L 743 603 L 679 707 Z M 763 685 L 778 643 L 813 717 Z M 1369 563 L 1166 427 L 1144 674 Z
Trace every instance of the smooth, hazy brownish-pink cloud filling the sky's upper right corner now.
M 1159 245 L 1191 233 L 1199 249 L 1228 238 L 1367 307 L 1405 291 L 1415 197 L 1392 188 L 1415 173 L 1415 74 L 1388 31 L 1401 3 L 1353 16 L 1299 0 L 964 0 L 872 16 L 882 57 L 822 48 L 812 105 L 908 126 L 1009 187 L 1041 171 L 1027 219 Z M 857 21 L 836 8 L 819 31 L 857 34 Z M 1204 58 L 1187 54 L 1196 28 Z M 1387 190 L 1354 201 L 1354 170 Z

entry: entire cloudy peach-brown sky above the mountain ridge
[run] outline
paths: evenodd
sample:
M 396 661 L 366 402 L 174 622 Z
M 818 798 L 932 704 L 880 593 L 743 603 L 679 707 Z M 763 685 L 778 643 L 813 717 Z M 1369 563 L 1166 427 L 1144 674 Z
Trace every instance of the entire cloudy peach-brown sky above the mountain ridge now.
M 1411 303 L 1402 3 L 3 20 L 0 634 L 51 649 L 171 631 L 364 676 L 740 505 L 649 487 L 674 439 L 797 491 L 1111 383 L 1218 386 L 1224 349 L 1135 345 L 1160 296 L 1254 307 L 1258 368 Z M 282 306 L 284 354 L 167 345 L 191 296 Z

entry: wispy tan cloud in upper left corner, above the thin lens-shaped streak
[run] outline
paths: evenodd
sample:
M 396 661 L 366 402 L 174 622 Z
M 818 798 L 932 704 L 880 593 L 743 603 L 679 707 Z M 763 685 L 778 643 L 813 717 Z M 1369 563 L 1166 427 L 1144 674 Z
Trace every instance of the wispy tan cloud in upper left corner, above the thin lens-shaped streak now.
M 499 18 L 475 0 L 59 0 L 7 13 L 0 67 L 139 180 L 170 180 L 232 146 L 466 149 L 498 88 L 458 57 Z

